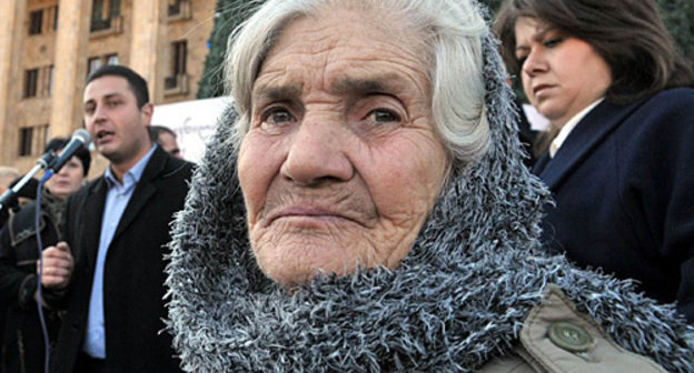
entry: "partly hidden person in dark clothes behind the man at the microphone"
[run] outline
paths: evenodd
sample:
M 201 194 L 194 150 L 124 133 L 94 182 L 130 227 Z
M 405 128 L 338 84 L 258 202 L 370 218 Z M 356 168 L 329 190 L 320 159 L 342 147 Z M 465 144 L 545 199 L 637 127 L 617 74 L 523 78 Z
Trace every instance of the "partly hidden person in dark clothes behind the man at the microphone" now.
M 46 152 L 60 151 L 70 139 L 54 138 Z M 82 186 L 89 172 L 91 155 L 81 148 L 49 179 L 41 191 L 39 230 L 43 248 L 62 238 L 66 202 Z M 38 185 L 33 186 L 34 190 Z M 38 240 L 37 203 L 31 202 L 12 214 L 0 231 L 0 302 L 8 304 L 0 372 L 43 372 L 43 332 L 34 294 L 37 292 Z M 56 310 L 43 308 L 49 341 L 53 342 L 60 327 Z

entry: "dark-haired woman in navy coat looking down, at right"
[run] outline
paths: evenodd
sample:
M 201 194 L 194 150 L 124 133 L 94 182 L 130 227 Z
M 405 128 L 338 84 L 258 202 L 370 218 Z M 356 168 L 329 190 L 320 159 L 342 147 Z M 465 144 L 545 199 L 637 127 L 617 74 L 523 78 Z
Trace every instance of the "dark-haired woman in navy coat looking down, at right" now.
M 653 0 L 508 0 L 496 31 L 554 129 L 544 242 L 694 322 L 694 77 Z

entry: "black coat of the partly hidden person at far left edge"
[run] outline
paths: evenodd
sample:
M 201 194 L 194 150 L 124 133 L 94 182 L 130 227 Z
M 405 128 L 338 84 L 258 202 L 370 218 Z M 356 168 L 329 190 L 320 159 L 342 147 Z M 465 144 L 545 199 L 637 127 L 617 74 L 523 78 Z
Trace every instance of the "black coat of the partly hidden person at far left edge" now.
M 36 202 L 14 215 L 0 233 L 0 303 L 8 305 L 0 372 L 43 372 L 44 343 L 33 293 L 37 289 L 38 259 Z M 41 210 L 40 232 L 43 248 L 59 241 L 60 224 L 46 208 Z M 43 309 L 53 342 L 60 327 L 56 310 Z

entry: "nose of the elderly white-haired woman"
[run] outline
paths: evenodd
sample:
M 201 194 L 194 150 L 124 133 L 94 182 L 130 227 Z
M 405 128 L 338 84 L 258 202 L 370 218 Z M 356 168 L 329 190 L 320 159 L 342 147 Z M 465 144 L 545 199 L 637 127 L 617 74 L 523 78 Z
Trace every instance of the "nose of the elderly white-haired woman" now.
M 309 186 L 350 180 L 355 170 L 344 151 L 347 135 L 338 122 L 304 120 L 291 134 L 282 177 Z

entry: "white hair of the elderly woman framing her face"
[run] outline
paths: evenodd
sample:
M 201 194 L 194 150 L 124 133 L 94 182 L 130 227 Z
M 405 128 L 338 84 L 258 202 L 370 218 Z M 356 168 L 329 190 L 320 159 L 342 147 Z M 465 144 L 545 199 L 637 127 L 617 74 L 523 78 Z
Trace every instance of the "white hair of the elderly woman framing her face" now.
M 361 6 L 395 14 L 398 28 L 422 34 L 429 49 L 426 61 L 432 89 L 432 114 L 442 142 L 465 163 L 489 145 L 485 108 L 482 37 L 487 26 L 474 0 L 269 0 L 229 38 L 226 88 L 239 118 L 231 141 L 238 149 L 249 130 L 251 91 L 260 68 L 285 27 L 300 17 L 333 7 Z M 408 42 L 413 42 L 408 40 Z

